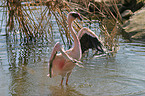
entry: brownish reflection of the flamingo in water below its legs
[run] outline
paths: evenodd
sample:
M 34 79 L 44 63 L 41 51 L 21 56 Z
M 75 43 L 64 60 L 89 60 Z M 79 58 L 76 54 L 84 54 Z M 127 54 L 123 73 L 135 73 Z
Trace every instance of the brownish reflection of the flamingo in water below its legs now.
M 49 96 L 85 96 L 71 86 L 50 86 L 49 89 L 51 91 Z

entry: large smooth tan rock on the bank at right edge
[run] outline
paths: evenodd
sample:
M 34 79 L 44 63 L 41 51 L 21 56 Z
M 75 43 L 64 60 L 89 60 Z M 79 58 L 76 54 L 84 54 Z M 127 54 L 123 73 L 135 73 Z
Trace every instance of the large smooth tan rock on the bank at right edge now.
M 123 29 L 130 39 L 145 40 L 145 7 L 133 13 L 123 24 Z

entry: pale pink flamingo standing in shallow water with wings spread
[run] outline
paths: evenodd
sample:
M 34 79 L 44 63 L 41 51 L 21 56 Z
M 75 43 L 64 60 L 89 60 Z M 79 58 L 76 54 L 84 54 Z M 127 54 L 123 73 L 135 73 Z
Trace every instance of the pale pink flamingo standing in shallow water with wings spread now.
M 78 18 L 79 20 L 82 20 L 81 16 L 77 12 L 70 12 L 67 16 L 68 20 L 68 26 L 71 32 L 71 35 L 74 39 L 74 46 L 70 48 L 69 50 L 64 50 L 59 42 L 57 42 L 53 48 L 53 51 L 51 53 L 51 57 L 49 59 L 49 74 L 47 76 L 54 77 L 56 75 L 61 75 L 61 83 L 63 84 L 64 77 L 66 76 L 66 85 L 68 85 L 68 79 L 70 74 L 72 73 L 72 69 L 75 67 L 75 65 L 78 65 L 79 67 L 83 67 L 80 59 L 82 57 L 82 53 L 84 53 L 89 48 L 96 48 L 98 51 L 104 52 L 101 43 L 97 39 L 97 35 L 93 33 L 91 30 L 87 28 L 82 28 L 79 31 L 79 34 L 74 32 L 74 29 L 72 27 L 73 21 Z M 88 40 L 88 42 L 85 40 Z M 85 41 L 84 41 L 85 40 Z M 86 43 L 86 45 L 84 44 Z M 90 42 L 90 43 L 89 43 Z M 97 44 L 94 44 L 94 42 Z M 81 45 L 82 43 L 82 45 Z M 87 46 L 88 45 L 88 46 Z M 83 49 L 81 49 L 83 48 Z M 57 54 L 57 52 L 60 52 L 60 54 Z

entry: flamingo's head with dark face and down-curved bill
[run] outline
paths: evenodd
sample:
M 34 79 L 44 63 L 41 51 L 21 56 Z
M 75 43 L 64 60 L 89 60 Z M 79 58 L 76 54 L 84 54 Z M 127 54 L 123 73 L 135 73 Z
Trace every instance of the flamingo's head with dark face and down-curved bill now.
M 82 18 L 79 13 L 77 12 L 70 12 L 67 17 L 68 21 L 74 21 L 75 19 L 79 19 L 82 21 Z

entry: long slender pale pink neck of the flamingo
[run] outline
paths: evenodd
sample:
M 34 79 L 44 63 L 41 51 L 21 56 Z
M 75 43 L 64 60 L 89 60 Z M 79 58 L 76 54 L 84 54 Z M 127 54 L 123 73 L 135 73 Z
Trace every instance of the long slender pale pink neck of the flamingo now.
M 81 50 L 80 41 L 79 41 L 77 34 L 74 32 L 72 24 L 73 24 L 73 21 L 71 21 L 71 20 L 68 21 L 68 26 L 71 31 L 72 37 L 74 39 L 74 47 L 73 47 L 72 51 L 75 51 L 75 54 L 77 55 L 76 59 L 81 59 L 82 50 Z

